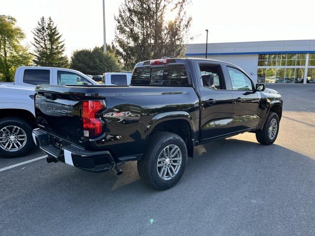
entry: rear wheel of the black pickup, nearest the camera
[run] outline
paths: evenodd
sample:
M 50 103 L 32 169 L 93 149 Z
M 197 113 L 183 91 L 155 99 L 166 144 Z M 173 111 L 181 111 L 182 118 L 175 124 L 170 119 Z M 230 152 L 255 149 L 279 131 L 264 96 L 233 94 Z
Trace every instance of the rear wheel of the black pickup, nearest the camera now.
M 143 157 L 138 160 L 140 178 L 149 186 L 166 190 L 182 178 L 187 165 L 187 147 L 174 133 L 158 132 L 150 137 Z

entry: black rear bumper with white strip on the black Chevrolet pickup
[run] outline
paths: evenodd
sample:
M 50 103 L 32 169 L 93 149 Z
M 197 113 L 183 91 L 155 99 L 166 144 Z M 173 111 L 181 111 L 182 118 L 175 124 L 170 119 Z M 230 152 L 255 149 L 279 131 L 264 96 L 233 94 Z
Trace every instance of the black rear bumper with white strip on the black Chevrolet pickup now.
M 85 150 L 41 129 L 33 130 L 32 136 L 37 147 L 68 165 L 90 172 L 104 172 L 115 167 L 115 161 L 109 151 Z M 58 145 L 55 144 L 56 139 Z

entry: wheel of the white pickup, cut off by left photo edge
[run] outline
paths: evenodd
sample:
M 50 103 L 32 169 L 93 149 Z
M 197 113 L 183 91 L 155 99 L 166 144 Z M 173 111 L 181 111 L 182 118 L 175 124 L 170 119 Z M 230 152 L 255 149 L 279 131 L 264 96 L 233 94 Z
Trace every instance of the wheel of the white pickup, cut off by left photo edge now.
M 16 117 L 0 120 L 0 156 L 25 156 L 34 146 L 32 127 L 26 120 Z

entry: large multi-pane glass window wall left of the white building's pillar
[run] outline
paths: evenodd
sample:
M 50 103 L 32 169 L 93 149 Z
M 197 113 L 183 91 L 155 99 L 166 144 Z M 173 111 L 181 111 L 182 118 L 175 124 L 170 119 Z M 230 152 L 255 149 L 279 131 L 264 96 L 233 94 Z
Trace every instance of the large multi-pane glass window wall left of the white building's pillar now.
M 315 54 L 311 58 L 315 66 Z M 303 83 L 305 65 L 306 54 L 258 55 L 257 83 Z

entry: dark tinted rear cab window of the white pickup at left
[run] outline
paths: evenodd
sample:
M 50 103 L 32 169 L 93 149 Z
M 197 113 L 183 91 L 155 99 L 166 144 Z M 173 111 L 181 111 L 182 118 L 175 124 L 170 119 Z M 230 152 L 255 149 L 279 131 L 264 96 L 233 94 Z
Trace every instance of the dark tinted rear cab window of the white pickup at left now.
M 31 85 L 49 85 L 49 70 L 24 70 L 23 82 Z

